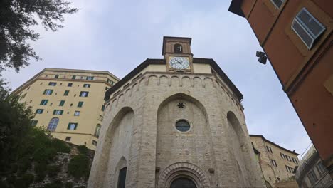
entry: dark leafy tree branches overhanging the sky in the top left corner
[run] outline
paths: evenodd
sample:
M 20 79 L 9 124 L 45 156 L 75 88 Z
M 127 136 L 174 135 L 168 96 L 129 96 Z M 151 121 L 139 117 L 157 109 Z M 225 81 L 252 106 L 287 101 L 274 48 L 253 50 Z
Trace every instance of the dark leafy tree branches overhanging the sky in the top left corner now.
M 65 0 L 0 0 L 0 71 L 18 72 L 30 58 L 40 60 L 28 43 L 40 36 L 31 28 L 38 25 L 36 19 L 46 30 L 57 31 L 63 28 L 64 14 L 77 11 Z

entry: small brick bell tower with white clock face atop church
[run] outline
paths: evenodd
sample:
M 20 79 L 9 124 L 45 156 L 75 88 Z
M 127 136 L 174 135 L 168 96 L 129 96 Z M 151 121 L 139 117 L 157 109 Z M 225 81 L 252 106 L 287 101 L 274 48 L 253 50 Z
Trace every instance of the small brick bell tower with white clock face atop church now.
M 162 55 L 166 60 L 166 71 L 193 73 L 192 38 L 163 37 Z

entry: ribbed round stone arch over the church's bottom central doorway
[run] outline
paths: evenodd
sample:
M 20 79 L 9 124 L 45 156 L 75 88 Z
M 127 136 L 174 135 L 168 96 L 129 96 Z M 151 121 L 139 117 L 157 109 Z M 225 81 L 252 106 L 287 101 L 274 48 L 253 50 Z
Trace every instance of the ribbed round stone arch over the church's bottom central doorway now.
M 190 179 L 196 188 L 210 187 L 206 173 L 199 167 L 189 162 L 177 162 L 166 167 L 159 175 L 159 188 L 169 188 L 174 180 L 184 178 Z

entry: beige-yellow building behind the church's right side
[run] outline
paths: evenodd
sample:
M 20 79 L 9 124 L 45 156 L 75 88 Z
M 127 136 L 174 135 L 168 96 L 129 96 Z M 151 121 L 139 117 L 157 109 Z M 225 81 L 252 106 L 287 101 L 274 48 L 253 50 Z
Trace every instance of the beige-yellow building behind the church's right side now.
M 287 150 L 265 139 L 263 135 L 250 135 L 250 140 L 259 152 L 257 156 L 266 187 L 280 187 L 278 184 L 295 177 L 294 169 L 300 163 L 295 151 Z M 295 179 L 290 184 L 297 187 Z

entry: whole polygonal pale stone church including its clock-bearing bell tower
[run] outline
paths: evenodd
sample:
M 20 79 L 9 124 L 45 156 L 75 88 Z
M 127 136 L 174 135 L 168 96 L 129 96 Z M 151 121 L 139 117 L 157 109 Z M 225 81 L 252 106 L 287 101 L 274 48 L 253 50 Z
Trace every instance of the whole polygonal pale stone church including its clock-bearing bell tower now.
M 236 86 L 191 38 L 164 37 L 162 55 L 105 94 L 88 187 L 265 187 Z

